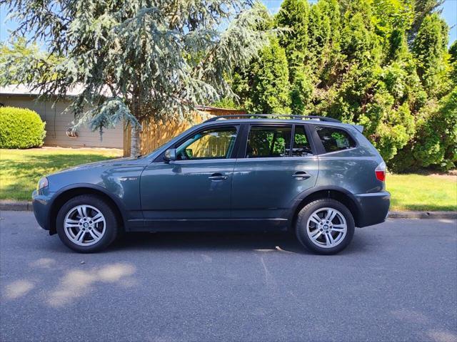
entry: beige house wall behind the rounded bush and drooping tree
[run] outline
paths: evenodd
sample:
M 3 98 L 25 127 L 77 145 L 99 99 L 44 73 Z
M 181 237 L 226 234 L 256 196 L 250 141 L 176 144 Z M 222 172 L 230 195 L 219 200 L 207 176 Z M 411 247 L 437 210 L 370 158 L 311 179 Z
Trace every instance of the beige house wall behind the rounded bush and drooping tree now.
M 78 138 L 69 138 L 66 130 L 74 119 L 73 114 L 62 112 L 69 105 L 69 101 L 60 100 L 53 106 L 53 101 L 37 101 L 30 95 L 1 95 L 0 103 L 5 106 L 29 108 L 35 110 L 46 122 L 46 137 L 44 145 L 62 147 L 115 147 L 123 148 L 124 128 L 118 125 L 112 130 L 104 130 L 103 139 L 100 140 L 98 131 L 92 132 L 90 128 L 82 127 L 78 130 Z

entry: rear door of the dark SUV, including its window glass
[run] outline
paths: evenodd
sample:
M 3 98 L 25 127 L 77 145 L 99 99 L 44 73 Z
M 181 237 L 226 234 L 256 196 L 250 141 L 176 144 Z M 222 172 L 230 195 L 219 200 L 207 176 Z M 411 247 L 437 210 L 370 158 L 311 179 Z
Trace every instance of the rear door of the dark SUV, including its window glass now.
M 232 217 L 285 217 L 293 200 L 316 184 L 318 158 L 306 125 L 252 124 L 233 171 Z

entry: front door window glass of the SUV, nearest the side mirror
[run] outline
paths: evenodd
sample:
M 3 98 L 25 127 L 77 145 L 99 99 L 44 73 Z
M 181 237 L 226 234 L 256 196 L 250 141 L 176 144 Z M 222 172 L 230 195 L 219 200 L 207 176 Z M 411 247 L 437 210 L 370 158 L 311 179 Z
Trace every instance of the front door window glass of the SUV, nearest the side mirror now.
M 224 127 L 204 130 L 176 148 L 178 160 L 226 159 L 236 140 L 236 128 Z

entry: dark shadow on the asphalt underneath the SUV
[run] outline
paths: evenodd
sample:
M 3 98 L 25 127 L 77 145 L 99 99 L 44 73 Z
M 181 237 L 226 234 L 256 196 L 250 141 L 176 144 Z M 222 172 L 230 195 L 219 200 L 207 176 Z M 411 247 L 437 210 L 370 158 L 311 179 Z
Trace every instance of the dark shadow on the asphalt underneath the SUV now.
M 311 254 L 296 237 L 284 233 L 230 233 L 230 232 L 158 232 L 128 233 L 118 239 L 107 252 L 121 250 L 186 250 L 186 251 L 279 251 Z M 341 253 L 360 253 L 365 250 L 364 238 L 354 237 Z

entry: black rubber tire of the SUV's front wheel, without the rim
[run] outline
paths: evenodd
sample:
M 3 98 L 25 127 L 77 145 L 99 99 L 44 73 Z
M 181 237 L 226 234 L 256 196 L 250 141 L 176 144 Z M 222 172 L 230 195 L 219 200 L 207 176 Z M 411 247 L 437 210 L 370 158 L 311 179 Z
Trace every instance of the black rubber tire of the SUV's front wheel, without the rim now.
M 71 209 L 74 209 L 79 205 L 89 205 L 91 207 L 95 207 L 105 218 L 106 225 L 103 236 L 98 242 L 91 244 L 90 246 L 81 246 L 72 242 L 65 233 L 64 220 L 66 214 L 69 213 Z M 67 247 L 79 253 L 94 253 L 105 249 L 109 246 L 109 244 L 111 244 L 111 242 L 114 241 L 114 239 L 116 239 L 119 232 L 119 221 L 114 210 L 103 198 L 96 195 L 79 195 L 69 199 L 69 201 L 61 207 L 59 214 L 57 214 L 56 229 L 61 242 L 64 242 Z

